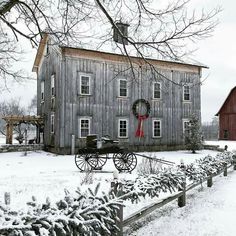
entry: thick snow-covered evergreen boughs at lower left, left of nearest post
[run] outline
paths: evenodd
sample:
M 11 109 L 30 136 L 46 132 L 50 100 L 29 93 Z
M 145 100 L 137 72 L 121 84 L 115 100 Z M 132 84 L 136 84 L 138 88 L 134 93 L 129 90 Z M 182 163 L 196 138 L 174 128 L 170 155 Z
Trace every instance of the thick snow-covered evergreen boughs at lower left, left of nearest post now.
M 0 208 L 1 236 L 77 236 L 116 235 L 117 210 L 122 204 L 112 194 L 97 196 L 98 187 L 87 193 L 78 189 L 73 196 L 66 192 L 55 206 L 50 202 L 29 204 L 27 212 Z

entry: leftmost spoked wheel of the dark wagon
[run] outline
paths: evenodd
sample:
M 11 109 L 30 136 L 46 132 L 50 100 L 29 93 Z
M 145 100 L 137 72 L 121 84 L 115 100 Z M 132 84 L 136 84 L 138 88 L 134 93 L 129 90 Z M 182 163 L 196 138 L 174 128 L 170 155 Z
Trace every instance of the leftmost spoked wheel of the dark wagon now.
M 95 154 L 79 153 L 75 155 L 75 164 L 81 171 L 88 171 L 94 169 L 98 160 Z

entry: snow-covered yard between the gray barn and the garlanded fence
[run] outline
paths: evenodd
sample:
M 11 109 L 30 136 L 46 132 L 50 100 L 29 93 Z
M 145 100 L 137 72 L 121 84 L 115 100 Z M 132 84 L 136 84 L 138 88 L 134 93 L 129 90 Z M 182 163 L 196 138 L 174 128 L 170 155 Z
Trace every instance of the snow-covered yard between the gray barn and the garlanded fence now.
M 179 164 L 181 159 L 190 163 L 209 153 L 216 154 L 215 151 L 203 150 L 195 155 L 188 151 L 157 152 L 148 155 Z M 141 160 L 142 158 L 138 157 L 138 165 Z M 92 174 L 93 183 L 90 187 L 94 188 L 100 183 L 101 190 L 108 191 L 115 170 L 112 160 L 108 160 L 102 172 Z M 133 179 L 136 176 L 136 170 L 132 174 L 119 174 L 120 179 Z M 36 196 L 38 202 L 44 202 L 46 197 L 55 202 L 64 197 L 64 189 L 70 192 L 74 192 L 78 186 L 86 189 L 88 186 L 82 185 L 85 177 L 86 174 L 77 169 L 72 155 L 55 155 L 43 151 L 28 152 L 27 156 L 21 152 L 0 153 L 0 201 L 3 201 L 5 192 L 10 192 L 11 205 L 16 209 L 23 207 L 32 196 Z M 148 203 L 148 200 L 146 201 Z M 130 209 L 125 208 L 125 215 L 134 210 L 137 210 L 135 205 Z

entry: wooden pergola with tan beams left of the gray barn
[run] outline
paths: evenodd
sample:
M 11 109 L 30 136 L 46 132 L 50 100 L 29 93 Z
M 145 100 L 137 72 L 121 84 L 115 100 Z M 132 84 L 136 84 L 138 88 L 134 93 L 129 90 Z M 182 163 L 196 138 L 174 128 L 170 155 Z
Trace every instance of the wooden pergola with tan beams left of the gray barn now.
M 21 123 L 36 125 L 37 127 L 43 126 L 43 118 L 40 116 L 4 116 L 3 120 L 6 121 L 6 144 L 12 144 L 13 127 Z

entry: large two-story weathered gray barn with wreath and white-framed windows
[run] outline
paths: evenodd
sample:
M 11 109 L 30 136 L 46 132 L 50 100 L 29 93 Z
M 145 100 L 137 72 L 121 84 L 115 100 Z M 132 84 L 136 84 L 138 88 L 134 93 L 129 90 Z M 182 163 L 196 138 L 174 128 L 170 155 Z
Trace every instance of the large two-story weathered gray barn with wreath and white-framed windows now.
M 135 150 L 183 147 L 184 129 L 192 113 L 201 115 L 200 77 L 205 66 L 137 57 L 135 79 L 127 57 L 114 53 L 56 46 L 45 35 L 35 58 L 38 115 L 44 118 L 46 149 L 70 153 L 83 147 L 88 134 L 109 135 Z M 150 104 L 146 119 L 132 107 Z M 137 113 L 148 105 L 138 103 Z M 141 109 L 141 110 L 139 110 Z M 142 124 L 141 124 L 142 123 Z M 137 137 L 138 126 L 144 137 Z M 141 135 L 140 135 L 141 136 Z

